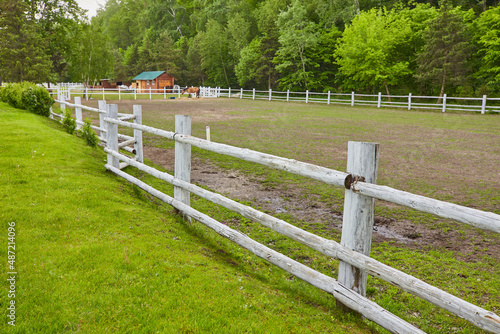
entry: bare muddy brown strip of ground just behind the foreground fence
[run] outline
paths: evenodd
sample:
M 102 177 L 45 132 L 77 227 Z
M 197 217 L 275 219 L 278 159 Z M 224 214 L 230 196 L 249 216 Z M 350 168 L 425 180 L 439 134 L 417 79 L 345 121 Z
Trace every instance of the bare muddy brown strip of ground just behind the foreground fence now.
M 173 173 L 174 150 L 153 146 L 145 147 L 145 156 Z M 328 203 L 318 201 L 310 194 L 304 194 L 298 187 L 267 187 L 258 177 L 249 177 L 235 170 L 217 167 L 199 158 L 192 160 L 191 182 L 206 186 L 229 198 L 251 202 L 254 207 L 270 215 L 291 215 L 294 221 L 315 223 L 329 231 L 327 234 L 339 241 L 342 230 L 342 213 L 331 208 Z M 381 203 L 378 203 L 380 205 Z M 458 224 L 458 223 L 457 223 Z M 483 256 L 500 260 L 500 244 L 484 233 L 469 229 L 467 234 L 455 230 L 429 229 L 422 224 L 408 220 L 375 217 L 373 241 L 395 241 L 405 247 L 416 249 L 444 248 L 457 253 L 457 258 L 468 262 Z

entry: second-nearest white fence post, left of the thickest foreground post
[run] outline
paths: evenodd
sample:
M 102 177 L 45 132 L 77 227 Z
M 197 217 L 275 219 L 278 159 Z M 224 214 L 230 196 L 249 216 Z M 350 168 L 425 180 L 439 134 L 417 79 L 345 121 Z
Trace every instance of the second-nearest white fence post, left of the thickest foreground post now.
M 175 132 L 183 135 L 191 135 L 191 116 L 175 115 Z M 191 182 L 191 145 L 175 142 L 174 176 L 182 181 Z M 189 195 L 189 191 L 180 187 L 174 187 L 174 198 L 176 200 L 190 205 Z

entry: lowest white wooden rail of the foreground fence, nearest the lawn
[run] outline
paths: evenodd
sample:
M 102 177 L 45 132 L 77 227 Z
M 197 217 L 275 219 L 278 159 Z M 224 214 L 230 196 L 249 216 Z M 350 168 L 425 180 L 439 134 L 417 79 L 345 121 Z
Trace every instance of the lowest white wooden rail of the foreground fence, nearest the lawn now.
M 190 206 L 154 189 L 153 187 L 145 184 L 137 178 L 130 176 L 127 173 L 120 171 L 118 168 L 115 168 L 110 164 L 107 164 L 106 168 L 128 180 L 129 182 L 137 185 L 139 188 L 145 190 L 156 198 L 164 201 L 165 203 L 168 203 L 177 210 L 192 217 L 196 221 L 201 222 L 221 236 L 249 250 L 258 257 L 280 267 L 281 269 L 304 280 L 305 282 L 308 282 L 309 284 L 332 294 L 334 298 L 341 301 L 344 305 L 361 313 L 364 317 L 374 321 L 388 331 L 392 333 L 408 334 L 424 333 L 420 329 L 412 326 L 404 320 L 401 320 L 400 318 L 396 317 L 395 315 L 383 309 L 376 303 L 370 301 L 369 299 L 360 296 L 359 294 L 356 294 L 349 289 L 346 289 L 334 278 L 312 270 L 311 268 L 284 256 L 283 254 L 280 254 L 264 245 L 259 244 L 255 240 L 250 239 L 245 234 L 233 230 L 224 224 L 221 224 L 213 218 L 199 211 L 196 211 Z

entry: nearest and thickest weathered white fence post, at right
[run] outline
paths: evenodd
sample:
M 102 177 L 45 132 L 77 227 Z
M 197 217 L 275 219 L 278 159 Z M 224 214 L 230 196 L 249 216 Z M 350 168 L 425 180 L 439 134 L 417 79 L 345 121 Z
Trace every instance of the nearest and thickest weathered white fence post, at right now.
M 375 183 L 377 179 L 379 144 L 348 143 L 344 217 L 340 244 L 364 255 L 370 255 L 374 219 L 374 202 L 371 197 L 356 194 L 351 180 L 365 178 L 364 182 Z M 354 185 L 352 185 L 354 186 Z M 366 272 L 345 262 L 339 262 L 340 283 L 360 295 L 366 295 Z

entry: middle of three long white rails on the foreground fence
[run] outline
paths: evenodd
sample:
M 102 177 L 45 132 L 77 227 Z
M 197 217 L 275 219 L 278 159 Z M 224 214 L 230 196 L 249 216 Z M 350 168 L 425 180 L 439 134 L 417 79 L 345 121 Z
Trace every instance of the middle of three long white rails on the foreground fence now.
M 470 304 L 461 300 L 445 291 L 435 288 L 413 276 L 405 274 L 399 270 L 391 268 L 383 263 L 380 263 L 366 255 L 352 251 L 346 247 L 341 246 L 339 243 L 324 239 L 315 234 L 301 230 L 281 219 L 272 217 L 268 214 L 260 212 L 254 208 L 245 206 L 241 203 L 226 198 L 220 194 L 216 194 L 198 187 L 194 184 L 176 179 L 174 176 L 158 171 L 152 167 L 141 164 L 129 157 L 119 154 L 116 151 L 109 151 L 105 149 L 106 153 L 127 162 L 129 165 L 138 168 L 158 179 L 164 180 L 174 186 L 182 187 L 193 194 L 205 198 L 215 204 L 221 205 L 229 210 L 237 212 L 245 218 L 251 219 L 255 222 L 273 229 L 274 231 L 285 235 L 297 242 L 311 247 L 327 256 L 331 256 L 347 262 L 361 270 L 366 271 L 368 274 L 381 278 L 391 284 L 401 288 L 404 291 L 410 292 L 418 297 L 421 297 L 434 305 L 442 307 L 453 314 L 456 314 L 475 326 L 489 330 L 491 332 L 498 332 L 500 330 L 500 317 L 493 312 L 484 310 L 478 306 Z M 359 183 L 358 183 L 359 184 Z

